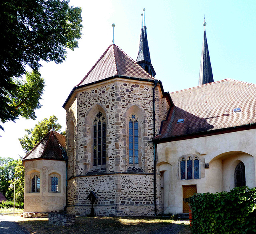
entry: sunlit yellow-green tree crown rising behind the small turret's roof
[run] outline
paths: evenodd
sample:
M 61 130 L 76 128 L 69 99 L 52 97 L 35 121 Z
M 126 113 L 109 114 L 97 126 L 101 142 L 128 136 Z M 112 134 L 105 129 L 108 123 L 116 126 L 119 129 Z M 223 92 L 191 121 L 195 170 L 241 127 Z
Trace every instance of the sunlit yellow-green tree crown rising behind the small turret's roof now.
M 62 128 L 57 121 L 58 118 L 52 115 L 49 119 L 44 118 L 42 121 L 38 122 L 34 128 L 25 130 L 28 134 L 23 138 L 19 138 L 19 141 L 26 154 L 31 151 L 52 128 L 54 131 L 59 131 Z M 62 132 L 61 134 L 65 133 Z

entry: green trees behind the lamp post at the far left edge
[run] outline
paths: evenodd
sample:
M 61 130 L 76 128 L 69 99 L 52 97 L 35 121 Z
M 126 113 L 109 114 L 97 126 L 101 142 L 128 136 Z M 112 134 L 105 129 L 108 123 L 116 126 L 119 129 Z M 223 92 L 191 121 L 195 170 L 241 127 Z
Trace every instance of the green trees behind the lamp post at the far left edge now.
M 14 191 L 9 190 L 10 180 L 16 180 L 15 167 L 18 165 L 18 160 L 12 158 L 0 157 L 0 192 L 7 200 L 13 199 Z

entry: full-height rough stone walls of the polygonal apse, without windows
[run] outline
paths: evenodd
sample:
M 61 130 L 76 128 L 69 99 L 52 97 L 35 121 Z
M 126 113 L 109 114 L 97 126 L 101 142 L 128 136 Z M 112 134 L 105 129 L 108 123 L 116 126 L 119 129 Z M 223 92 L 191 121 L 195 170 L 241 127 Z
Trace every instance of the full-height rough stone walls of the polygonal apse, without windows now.
M 167 105 L 164 103 L 166 101 L 162 101 L 162 93 L 160 93 L 158 86 L 155 89 L 156 134 L 159 133 L 161 121 L 166 117 L 168 111 L 166 109 Z M 76 95 L 76 99 L 73 99 L 74 102 L 69 101 L 67 104 L 66 141 L 69 157 L 68 204 L 70 207 L 68 210 L 70 212 L 88 213 L 85 207 L 89 204 L 84 201 L 84 196 L 88 196 L 90 190 L 97 191 L 101 194 L 100 197 L 105 197 L 99 203 L 105 208 L 98 208 L 99 210 L 96 211 L 95 207 L 95 212 L 98 212 L 98 214 L 116 214 L 116 210 L 121 209 L 119 206 L 124 207 L 124 205 L 127 207 L 134 206 L 134 208 L 122 209 L 122 214 L 129 214 L 132 213 L 132 210 L 137 210 L 136 214 L 139 215 L 139 213 L 144 212 L 142 210 L 146 209 L 146 206 L 154 208 L 154 204 L 152 204 L 153 175 L 150 175 L 154 172 L 154 148 L 152 144 L 153 87 L 154 83 L 152 82 L 116 78 L 81 88 L 74 94 Z M 106 166 L 93 166 L 92 121 L 99 111 L 106 117 Z M 138 165 L 128 163 L 128 121 L 130 115 L 134 113 L 137 115 L 139 122 Z M 73 138 L 72 133 L 70 133 L 73 131 L 70 127 L 72 122 L 74 123 Z M 72 146 L 73 141 L 74 146 Z M 74 159 L 73 168 L 72 159 Z M 136 179 L 133 174 L 100 175 L 98 178 L 96 178 L 97 176 L 87 176 L 87 173 L 102 169 L 102 167 L 106 167 L 103 170 L 106 174 L 127 173 L 129 170 L 131 171 L 131 168 L 135 168 L 136 170 L 142 170 L 144 175 L 140 175 L 140 179 Z M 73 176 L 79 177 L 72 178 Z M 124 188 L 122 188 L 120 181 L 122 186 L 125 186 Z M 130 185 L 132 187 L 129 187 Z M 131 190 L 138 194 L 141 192 L 145 194 L 135 196 L 135 194 L 132 195 Z M 157 194 L 158 206 L 160 207 L 160 186 L 157 187 Z M 129 196 L 138 203 L 132 201 L 134 204 L 131 204 L 131 201 L 128 201 Z M 114 210 L 110 202 L 114 202 Z M 97 204 L 97 207 L 99 204 Z M 138 206 L 144 208 L 140 209 Z

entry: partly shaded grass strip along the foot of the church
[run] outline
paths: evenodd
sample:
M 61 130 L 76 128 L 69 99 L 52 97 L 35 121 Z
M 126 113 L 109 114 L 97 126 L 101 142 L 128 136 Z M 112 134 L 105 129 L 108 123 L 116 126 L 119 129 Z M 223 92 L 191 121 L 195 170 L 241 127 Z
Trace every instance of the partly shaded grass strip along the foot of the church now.
M 48 224 L 48 218 L 20 218 L 20 226 L 31 234 L 66 233 L 66 234 L 147 234 L 169 224 L 185 226 L 180 234 L 191 234 L 189 221 L 174 221 L 161 217 L 76 217 L 72 226 L 55 226 Z

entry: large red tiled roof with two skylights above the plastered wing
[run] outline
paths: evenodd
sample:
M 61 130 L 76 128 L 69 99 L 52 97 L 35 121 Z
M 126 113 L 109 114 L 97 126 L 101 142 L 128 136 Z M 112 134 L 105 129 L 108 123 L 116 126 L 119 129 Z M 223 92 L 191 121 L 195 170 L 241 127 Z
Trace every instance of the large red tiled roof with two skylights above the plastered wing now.
M 156 138 L 256 123 L 255 93 L 255 84 L 233 79 L 170 93 L 174 106 Z M 242 111 L 233 113 L 238 107 Z M 184 122 L 177 123 L 178 119 L 184 119 Z

